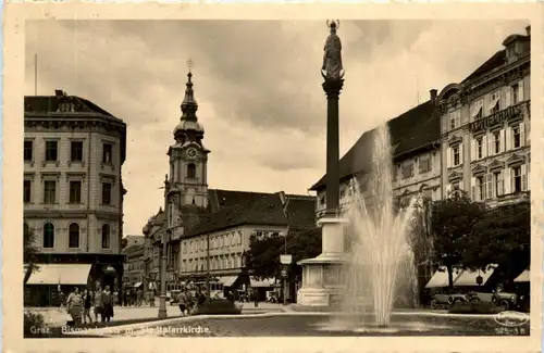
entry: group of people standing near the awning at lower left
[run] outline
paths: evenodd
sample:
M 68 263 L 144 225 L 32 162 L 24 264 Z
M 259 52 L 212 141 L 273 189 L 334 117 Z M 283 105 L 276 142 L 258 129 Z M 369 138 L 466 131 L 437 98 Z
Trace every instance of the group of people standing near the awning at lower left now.
M 87 324 L 87 319 L 89 324 L 97 323 L 98 316 L 100 316 L 102 323 L 110 322 L 114 314 L 113 304 L 115 298 L 109 286 L 106 286 L 103 290 L 98 288 L 95 292 L 85 289 L 83 293 L 79 292 L 79 288 L 74 287 L 66 300 L 64 300 L 64 293 L 61 291 L 60 299 L 61 310 L 65 307 L 76 326 L 82 325 L 82 323 Z M 91 308 L 95 320 L 90 315 Z

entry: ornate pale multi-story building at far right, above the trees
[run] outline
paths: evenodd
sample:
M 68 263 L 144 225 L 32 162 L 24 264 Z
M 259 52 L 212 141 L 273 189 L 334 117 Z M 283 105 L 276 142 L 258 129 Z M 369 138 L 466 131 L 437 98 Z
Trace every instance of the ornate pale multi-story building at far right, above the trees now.
M 438 96 L 444 193 L 491 206 L 529 200 L 531 31 L 511 35 L 460 84 Z

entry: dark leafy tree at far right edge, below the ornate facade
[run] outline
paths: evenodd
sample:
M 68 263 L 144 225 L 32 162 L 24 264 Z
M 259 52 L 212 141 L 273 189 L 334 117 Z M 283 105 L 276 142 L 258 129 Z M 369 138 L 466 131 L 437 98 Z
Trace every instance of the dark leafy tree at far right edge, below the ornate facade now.
M 489 210 L 471 232 L 463 260 L 471 269 L 499 265 L 509 281 L 529 266 L 531 259 L 531 205 L 529 202 Z

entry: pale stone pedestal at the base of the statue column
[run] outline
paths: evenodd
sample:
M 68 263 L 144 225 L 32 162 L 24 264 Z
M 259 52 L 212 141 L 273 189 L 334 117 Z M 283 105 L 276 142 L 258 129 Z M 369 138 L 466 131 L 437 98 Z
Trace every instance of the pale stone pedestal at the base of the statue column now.
M 318 220 L 322 231 L 322 253 L 298 262 L 302 266 L 302 287 L 297 292 L 297 306 L 316 310 L 333 308 L 346 285 L 342 269 L 347 263 L 344 252 L 344 226 L 347 219 L 323 217 Z

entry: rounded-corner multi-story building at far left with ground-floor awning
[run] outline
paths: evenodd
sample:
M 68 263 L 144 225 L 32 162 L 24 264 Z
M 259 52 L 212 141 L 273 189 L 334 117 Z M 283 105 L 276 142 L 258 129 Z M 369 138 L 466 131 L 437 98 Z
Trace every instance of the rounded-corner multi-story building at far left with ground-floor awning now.
M 114 286 L 123 273 L 126 125 L 61 90 L 24 103 L 24 227 L 40 251 L 40 270 L 27 285 L 86 285 L 89 277 Z

